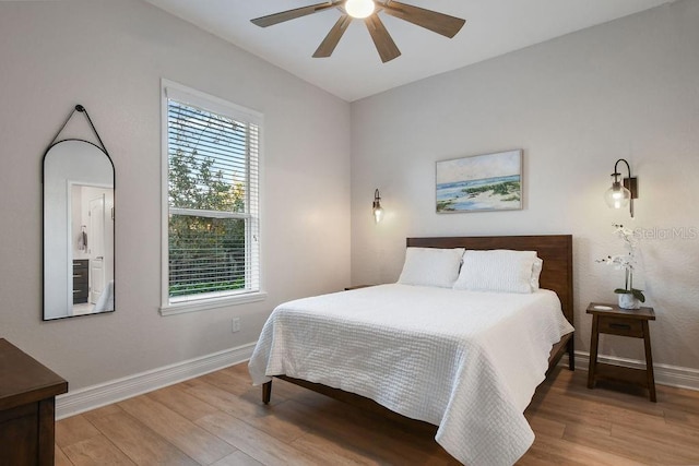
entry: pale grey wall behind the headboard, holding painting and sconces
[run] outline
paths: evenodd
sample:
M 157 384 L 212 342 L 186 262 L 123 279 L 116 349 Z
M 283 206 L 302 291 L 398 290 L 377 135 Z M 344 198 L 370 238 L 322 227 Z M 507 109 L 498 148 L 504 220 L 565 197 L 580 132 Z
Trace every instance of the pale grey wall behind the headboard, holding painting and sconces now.
M 584 351 L 588 303 L 623 286 L 595 263 L 623 252 L 623 223 L 651 236 L 637 278 L 657 314 L 655 362 L 699 369 L 698 24 L 699 2 L 679 1 L 354 103 L 352 282 L 394 282 L 407 236 L 572 234 Z M 524 210 L 435 213 L 436 160 L 510 148 L 524 150 Z M 639 178 L 633 220 L 602 199 L 621 157 Z M 600 350 L 643 359 L 641 348 L 605 336 Z

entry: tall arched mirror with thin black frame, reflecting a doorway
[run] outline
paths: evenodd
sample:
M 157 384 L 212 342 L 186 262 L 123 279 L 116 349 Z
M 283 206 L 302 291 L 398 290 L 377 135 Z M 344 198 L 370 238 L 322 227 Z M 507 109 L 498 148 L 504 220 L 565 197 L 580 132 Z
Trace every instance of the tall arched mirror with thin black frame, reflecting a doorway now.
M 44 320 L 115 310 L 114 165 L 88 141 L 44 155 Z

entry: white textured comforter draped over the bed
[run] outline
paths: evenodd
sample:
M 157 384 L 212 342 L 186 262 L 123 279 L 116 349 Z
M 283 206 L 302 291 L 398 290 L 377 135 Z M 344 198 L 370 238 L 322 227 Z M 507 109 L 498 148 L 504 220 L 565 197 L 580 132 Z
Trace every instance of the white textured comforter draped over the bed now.
M 513 464 L 534 441 L 524 418 L 552 345 L 572 332 L 558 297 L 382 285 L 279 306 L 249 370 L 318 382 L 439 426 L 467 465 Z

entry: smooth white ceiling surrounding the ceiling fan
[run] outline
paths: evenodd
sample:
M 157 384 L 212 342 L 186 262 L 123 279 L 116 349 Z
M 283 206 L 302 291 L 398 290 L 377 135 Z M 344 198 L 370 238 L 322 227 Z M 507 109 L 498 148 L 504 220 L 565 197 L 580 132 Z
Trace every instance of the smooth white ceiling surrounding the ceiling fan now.
M 146 0 L 347 101 L 674 0 L 403 0 L 466 20 L 453 38 L 379 13 L 402 56 L 381 63 L 360 20 L 330 58 L 312 58 L 336 9 L 266 28 L 251 19 L 322 0 Z

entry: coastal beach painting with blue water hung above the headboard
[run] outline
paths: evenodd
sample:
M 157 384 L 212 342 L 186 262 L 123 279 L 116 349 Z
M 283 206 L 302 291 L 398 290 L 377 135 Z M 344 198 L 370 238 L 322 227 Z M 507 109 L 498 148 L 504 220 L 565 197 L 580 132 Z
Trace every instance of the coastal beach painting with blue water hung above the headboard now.
M 522 151 L 437 162 L 437 213 L 522 208 Z

